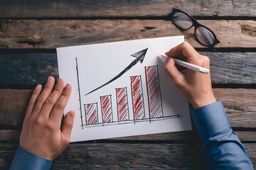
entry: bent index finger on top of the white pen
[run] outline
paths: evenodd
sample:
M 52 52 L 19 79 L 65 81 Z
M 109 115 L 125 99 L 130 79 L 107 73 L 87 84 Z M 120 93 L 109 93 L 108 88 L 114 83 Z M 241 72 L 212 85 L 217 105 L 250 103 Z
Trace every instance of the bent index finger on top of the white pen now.
M 171 50 L 169 50 L 169 52 L 166 52 L 165 54 L 168 57 L 180 56 L 180 57 L 187 57 L 187 58 L 193 58 L 199 55 L 198 52 L 186 41 L 172 48 Z

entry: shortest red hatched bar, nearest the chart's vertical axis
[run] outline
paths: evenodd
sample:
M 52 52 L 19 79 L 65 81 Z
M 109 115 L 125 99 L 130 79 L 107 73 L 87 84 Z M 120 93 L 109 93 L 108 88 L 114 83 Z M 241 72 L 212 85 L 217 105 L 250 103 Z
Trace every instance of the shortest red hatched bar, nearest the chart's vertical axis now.
M 94 125 L 97 123 L 97 103 L 85 104 L 85 123 Z

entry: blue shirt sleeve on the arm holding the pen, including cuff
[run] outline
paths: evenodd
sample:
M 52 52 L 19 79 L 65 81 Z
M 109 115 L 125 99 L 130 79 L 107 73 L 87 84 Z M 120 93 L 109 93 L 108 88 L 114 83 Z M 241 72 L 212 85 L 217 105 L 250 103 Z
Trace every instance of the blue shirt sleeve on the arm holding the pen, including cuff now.
M 201 138 L 203 169 L 253 169 L 220 101 L 192 110 L 191 117 Z

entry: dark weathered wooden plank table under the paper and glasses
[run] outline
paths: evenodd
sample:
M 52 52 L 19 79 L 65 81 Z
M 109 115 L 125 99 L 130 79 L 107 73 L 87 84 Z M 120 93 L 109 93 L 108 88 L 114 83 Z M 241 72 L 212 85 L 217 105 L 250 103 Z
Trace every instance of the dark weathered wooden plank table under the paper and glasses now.
M 220 40 L 207 52 L 194 29 L 181 32 L 164 16 L 180 8 Z M 256 167 L 256 1 L 1 1 L 0 169 L 18 147 L 36 84 L 58 78 L 56 47 L 185 35 L 210 57 L 214 94 Z M 52 169 L 200 169 L 196 132 L 73 143 Z

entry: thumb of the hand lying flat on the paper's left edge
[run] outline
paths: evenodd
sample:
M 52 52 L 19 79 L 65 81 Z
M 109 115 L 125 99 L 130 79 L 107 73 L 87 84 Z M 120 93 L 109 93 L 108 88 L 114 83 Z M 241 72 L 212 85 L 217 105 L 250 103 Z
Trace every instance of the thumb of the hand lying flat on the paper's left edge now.
M 75 111 L 70 111 L 68 112 L 67 115 L 65 115 L 65 118 L 63 120 L 63 127 L 61 128 L 61 133 L 62 133 L 62 142 L 63 145 L 68 145 L 70 142 L 70 136 L 71 136 L 71 131 L 73 129 L 73 124 L 74 124 L 74 118 L 75 118 Z

